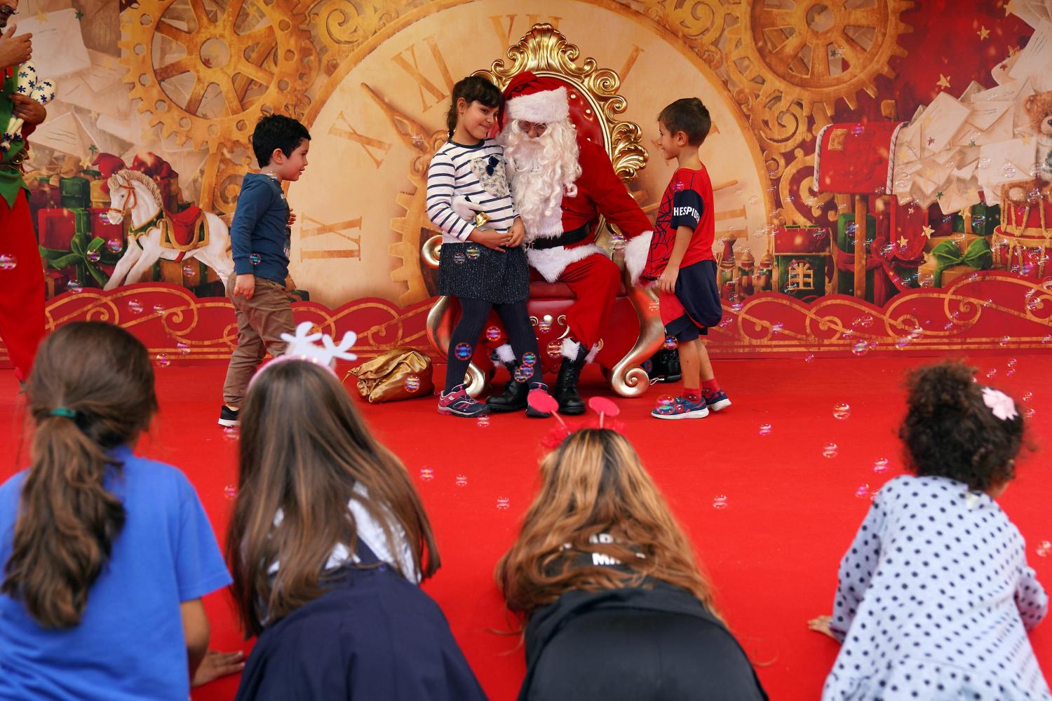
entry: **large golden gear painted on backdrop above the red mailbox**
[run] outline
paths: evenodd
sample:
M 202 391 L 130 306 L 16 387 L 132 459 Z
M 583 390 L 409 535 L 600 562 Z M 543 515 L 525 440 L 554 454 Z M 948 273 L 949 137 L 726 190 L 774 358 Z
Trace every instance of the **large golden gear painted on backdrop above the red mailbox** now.
M 906 56 L 896 42 L 913 28 L 901 15 L 911 0 L 876 0 L 874 6 L 848 8 L 826 0 L 797 0 L 791 9 L 764 2 L 732 5 L 737 24 L 728 27 L 727 68 L 736 82 L 766 107 L 781 95 L 783 105 L 800 101 L 804 114 L 815 103 L 833 114 L 837 100 L 854 109 L 858 90 L 876 95 L 877 75 L 894 78 L 892 56 Z M 858 38 L 872 30 L 866 47 Z M 847 62 L 841 73 L 834 67 Z M 762 80 L 763 82 L 757 82 Z

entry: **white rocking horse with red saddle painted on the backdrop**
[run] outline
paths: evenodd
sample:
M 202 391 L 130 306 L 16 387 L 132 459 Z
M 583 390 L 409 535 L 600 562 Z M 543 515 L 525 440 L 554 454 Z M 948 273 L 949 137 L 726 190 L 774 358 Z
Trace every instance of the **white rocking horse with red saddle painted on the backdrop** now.
M 198 259 L 226 283 L 234 261 L 227 252 L 230 233 L 219 217 L 197 207 L 179 214 L 166 212 L 157 183 L 137 170 L 119 170 L 106 182 L 110 200 L 106 218 L 120 224 L 130 214 L 132 227 L 127 250 L 103 289 L 138 283 L 159 259 Z

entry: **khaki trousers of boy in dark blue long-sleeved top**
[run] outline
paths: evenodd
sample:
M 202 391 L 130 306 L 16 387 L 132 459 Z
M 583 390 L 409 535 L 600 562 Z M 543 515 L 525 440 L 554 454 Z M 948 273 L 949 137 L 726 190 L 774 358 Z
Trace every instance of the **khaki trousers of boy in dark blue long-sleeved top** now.
M 248 391 L 248 380 L 260 362 L 267 351 L 274 357 L 285 352 L 287 343 L 281 334 L 295 333 L 296 325 L 292 323 L 292 304 L 285 295 L 284 285 L 257 277 L 256 292 L 251 300 L 246 300 L 242 295 L 235 296 L 235 280 L 237 273 L 231 272 L 226 281 L 226 294 L 234 303 L 238 317 L 238 347 L 230 353 L 230 365 L 223 383 L 223 401 L 240 408 Z

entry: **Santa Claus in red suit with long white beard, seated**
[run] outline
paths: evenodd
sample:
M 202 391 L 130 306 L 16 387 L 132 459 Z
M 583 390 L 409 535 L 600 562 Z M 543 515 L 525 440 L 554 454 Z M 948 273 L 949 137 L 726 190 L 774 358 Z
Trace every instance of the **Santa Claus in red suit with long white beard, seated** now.
M 613 171 L 601 144 L 582 138 L 560 81 L 524 71 L 504 90 L 498 141 L 512 195 L 526 226 L 526 255 L 549 283 L 565 283 L 576 301 L 552 390 L 563 414 L 583 414 L 578 377 L 599 352 L 621 271 L 595 245 L 600 215 L 628 240 L 625 265 L 634 284 L 650 249 L 651 225 Z M 501 397 L 491 397 L 497 403 Z

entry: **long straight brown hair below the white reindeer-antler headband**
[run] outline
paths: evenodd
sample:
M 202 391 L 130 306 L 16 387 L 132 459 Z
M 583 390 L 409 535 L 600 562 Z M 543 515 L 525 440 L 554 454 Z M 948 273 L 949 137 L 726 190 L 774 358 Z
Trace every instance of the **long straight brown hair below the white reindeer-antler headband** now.
M 393 518 L 420 574 L 439 569 L 431 525 L 405 467 L 372 437 L 328 370 L 285 360 L 254 380 L 241 410 L 239 460 L 226 556 L 246 634 L 259 635 L 263 621 L 324 593 L 332 550 L 342 543 L 353 552 L 358 540 L 351 499 L 383 527 L 390 552 L 400 550 L 388 528 Z M 356 483 L 368 499 L 353 491 Z M 280 566 L 269 574 L 275 562 Z

